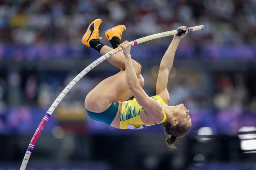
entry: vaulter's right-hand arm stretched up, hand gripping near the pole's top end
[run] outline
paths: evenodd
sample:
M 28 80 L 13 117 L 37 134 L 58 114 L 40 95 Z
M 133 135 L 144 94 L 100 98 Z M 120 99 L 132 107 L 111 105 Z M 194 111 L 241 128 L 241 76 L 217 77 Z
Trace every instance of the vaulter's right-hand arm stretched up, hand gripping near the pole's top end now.
M 188 34 L 188 29 L 184 26 L 178 27 L 186 32 L 183 35 L 174 35 L 174 38 L 169 45 L 164 57 L 160 63 L 160 70 L 156 81 L 156 95 L 162 97 L 164 102 L 167 104 L 170 100 L 170 96 L 167 90 L 168 76 L 173 65 L 174 55 L 178 47 L 179 42 Z

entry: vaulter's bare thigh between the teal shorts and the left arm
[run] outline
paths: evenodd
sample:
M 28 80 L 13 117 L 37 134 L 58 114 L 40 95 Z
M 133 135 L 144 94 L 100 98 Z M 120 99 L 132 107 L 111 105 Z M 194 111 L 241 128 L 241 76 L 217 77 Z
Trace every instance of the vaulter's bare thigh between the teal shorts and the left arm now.
M 110 104 L 127 92 L 125 70 L 100 82 L 85 98 L 85 107 L 89 111 L 102 112 Z

